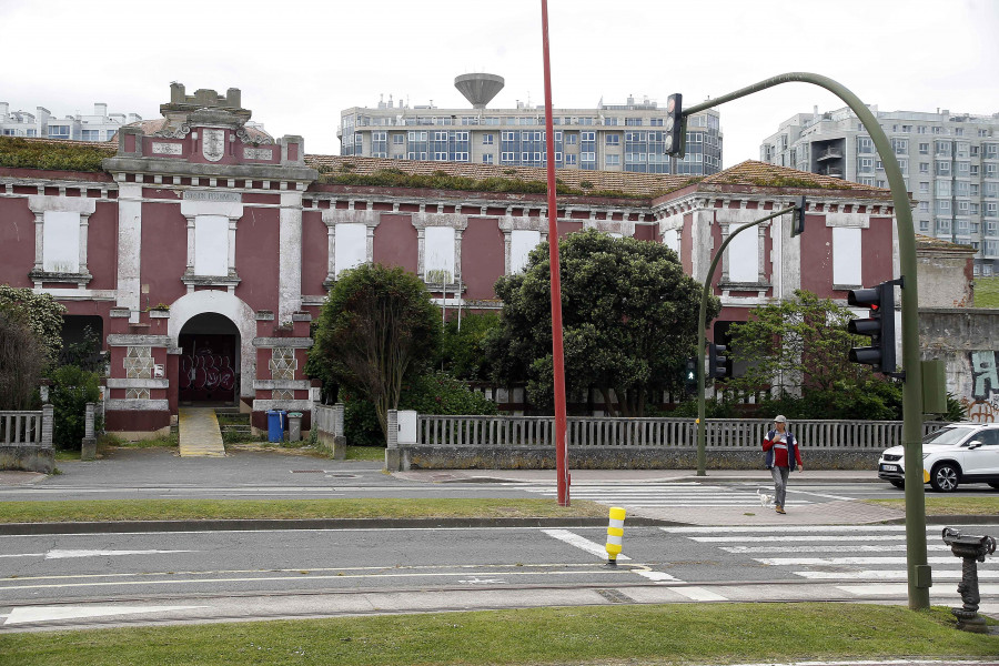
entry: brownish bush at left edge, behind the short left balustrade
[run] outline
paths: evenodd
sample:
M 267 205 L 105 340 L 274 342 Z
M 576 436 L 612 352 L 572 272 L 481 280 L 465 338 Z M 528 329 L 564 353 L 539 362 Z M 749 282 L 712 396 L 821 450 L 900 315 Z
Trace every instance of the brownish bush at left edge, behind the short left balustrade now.
M 20 310 L 0 307 L 0 410 L 34 406 L 46 350 L 27 319 Z

